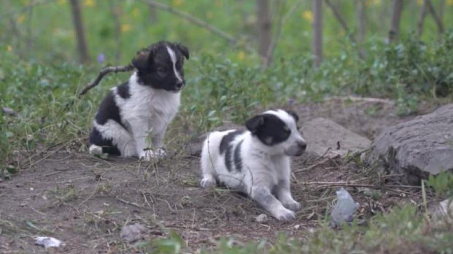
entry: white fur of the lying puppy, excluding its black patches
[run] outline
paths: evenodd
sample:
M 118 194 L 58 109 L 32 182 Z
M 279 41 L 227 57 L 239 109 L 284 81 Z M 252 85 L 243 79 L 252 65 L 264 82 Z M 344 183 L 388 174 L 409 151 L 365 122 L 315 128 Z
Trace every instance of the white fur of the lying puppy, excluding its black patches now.
M 278 220 L 293 219 L 294 211 L 300 208 L 300 204 L 290 193 L 290 163 L 286 154 L 293 154 L 294 145 L 305 140 L 297 131 L 291 115 L 283 110 L 265 113 L 275 114 L 282 119 L 291 130 L 290 137 L 285 142 L 270 147 L 249 131 L 237 136 L 230 144 L 236 147 L 242 142 L 242 170 L 238 171 L 233 163 L 230 172 L 224 163 L 226 153 L 220 154 L 219 145 L 225 135 L 235 130 L 210 133 L 201 153 L 201 186 L 213 186 L 217 179 L 229 188 L 247 193 Z

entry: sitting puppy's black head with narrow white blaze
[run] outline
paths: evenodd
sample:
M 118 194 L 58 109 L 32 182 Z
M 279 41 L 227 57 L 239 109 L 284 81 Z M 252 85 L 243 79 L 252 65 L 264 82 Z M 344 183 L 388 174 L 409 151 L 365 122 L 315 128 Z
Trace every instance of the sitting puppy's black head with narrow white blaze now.
M 184 58 L 189 59 L 186 47 L 162 41 L 137 52 L 132 65 L 142 84 L 177 92 L 185 84 Z

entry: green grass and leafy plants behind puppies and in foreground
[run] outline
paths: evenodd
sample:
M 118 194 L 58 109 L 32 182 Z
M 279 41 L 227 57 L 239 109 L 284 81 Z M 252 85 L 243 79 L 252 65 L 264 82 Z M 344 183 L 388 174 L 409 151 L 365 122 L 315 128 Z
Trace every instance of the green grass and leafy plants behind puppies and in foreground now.
M 300 1 L 282 29 L 272 65 L 263 70 L 260 59 L 241 47 L 233 47 L 202 28 L 165 12 L 157 22 L 149 18 L 149 9 L 136 1 L 117 1 L 123 26 L 121 38 L 114 34 L 107 1 L 81 0 L 89 52 L 93 63 L 80 66 L 67 1 L 44 1 L 30 13 L 23 7 L 29 1 L 3 0 L 0 9 L 0 105 L 20 114 L 0 115 L 0 177 L 9 179 L 29 165 L 24 157 L 57 144 L 86 152 L 85 141 L 99 102 L 108 89 L 127 78 L 126 73 L 111 74 L 82 98 L 78 92 L 95 78 L 106 64 L 126 64 L 135 52 L 159 40 L 180 41 L 191 50 L 185 66 L 187 87 L 182 107 L 173 124 L 204 133 L 225 122 L 244 119 L 272 105 L 322 101 L 326 96 L 351 95 L 391 98 L 399 113 L 417 110 L 420 102 L 453 100 L 453 24 L 452 15 L 444 15 L 447 32 L 437 40 L 435 24 L 427 17 L 425 32 L 418 40 L 417 4 L 410 2 L 403 11 L 401 40 L 384 43 L 388 20 L 383 21 L 383 1 L 367 1 L 367 33 L 363 43 L 353 45 L 338 22 L 324 6 L 325 60 L 312 67 L 311 24 L 304 12 L 310 1 Z M 47 3 L 48 2 L 48 3 Z M 188 0 L 162 1 L 190 13 L 256 47 L 254 1 Z M 334 2 L 334 1 L 332 1 Z M 438 1 L 433 1 L 437 6 Z M 447 1 L 448 2 L 448 1 Z M 91 6 L 90 3 L 94 5 Z M 240 3 L 243 3 L 241 5 Z M 275 2 L 274 2 L 275 3 Z M 283 2 L 282 2 L 283 3 Z M 294 1 L 284 2 L 288 13 Z M 379 3 L 379 4 L 378 4 Z M 212 8 L 214 6 L 215 8 Z M 355 31 L 353 1 L 342 1 L 341 13 L 351 31 Z M 445 14 L 453 6 L 445 7 Z M 278 20 L 279 16 L 274 19 Z M 12 24 L 17 32 L 12 30 Z M 12 32 L 13 31 L 13 32 Z M 30 32 L 29 32 L 30 31 Z M 27 44 L 31 38 L 31 44 Z M 366 57 L 357 56 L 357 46 Z M 117 58 L 117 49 L 121 49 Z M 105 54 L 106 61 L 96 62 Z M 451 196 L 451 176 L 430 178 L 427 185 L 439 198 Z M 75 189 L 56 190 L 55 198 L 72 197 Z M 57 192 L 59 191 L 59 192 Z M 66 191 L 66 192 L 65 192 Z M 69 196 L 66 196 L 69 195 Z M 0 220 L 8 229 L 8 223 Z M 218 253 L 346 253 L 381 252 L 402 249 L 452 253 L 451 224 L 433 226 L 427 215 L 415 205 L 395 207 L 390 213 L 371 218 L 368 225 L 353 224 L 334 231 L 325 225 L 300 235 L 280 234 L 276 239 L 237 243 L 223 238 Z M 177 233 L 169 238 L 140 243 L 140 248 L 158 253 L 186 249 Z M 413 246 L 413 248 L 411 247 Z M 407 249 L 406 249 L 407 247 Z M 210 253 L 214 250 L 206 250 Z M 423 252 L 423 251 L 422 251 Z

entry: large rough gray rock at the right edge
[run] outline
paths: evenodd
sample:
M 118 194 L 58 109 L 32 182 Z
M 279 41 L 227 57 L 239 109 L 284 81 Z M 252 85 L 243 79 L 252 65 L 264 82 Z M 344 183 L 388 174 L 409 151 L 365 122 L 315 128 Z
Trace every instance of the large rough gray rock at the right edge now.
M 403 173 L 403 182 L 412 185 L 429 174 L 453 171 L 453 104 L 386 129 L 365 162 L 381 172 Z

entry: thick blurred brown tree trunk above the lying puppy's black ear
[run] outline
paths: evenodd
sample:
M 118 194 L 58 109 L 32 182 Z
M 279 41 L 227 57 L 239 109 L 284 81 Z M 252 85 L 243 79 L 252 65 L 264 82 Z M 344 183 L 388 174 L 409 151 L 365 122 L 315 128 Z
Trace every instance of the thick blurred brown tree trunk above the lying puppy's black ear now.
M 257 0 L 257 23 L 258 23 L 258 53 L 266 58 L 271 43 L 271 17 L 269 0 Z

